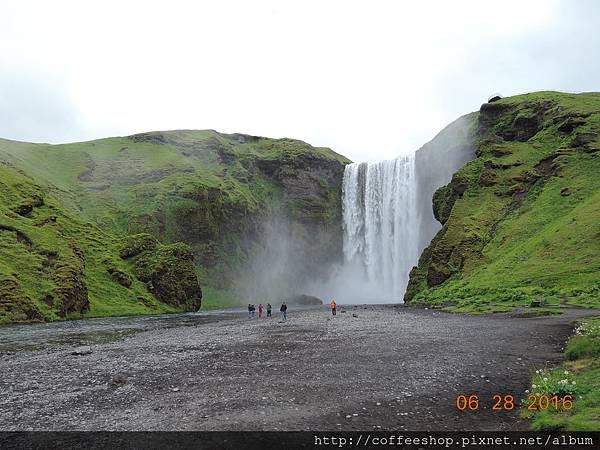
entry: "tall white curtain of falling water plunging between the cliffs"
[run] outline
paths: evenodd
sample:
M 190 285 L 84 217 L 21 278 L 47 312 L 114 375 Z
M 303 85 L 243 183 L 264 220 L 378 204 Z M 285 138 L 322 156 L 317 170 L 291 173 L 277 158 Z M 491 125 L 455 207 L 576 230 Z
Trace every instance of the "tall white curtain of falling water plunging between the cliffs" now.
M 415 158 L 349 164 L 343 181 L 344 265 L 370 301 L 400 302 L 419 257 Z

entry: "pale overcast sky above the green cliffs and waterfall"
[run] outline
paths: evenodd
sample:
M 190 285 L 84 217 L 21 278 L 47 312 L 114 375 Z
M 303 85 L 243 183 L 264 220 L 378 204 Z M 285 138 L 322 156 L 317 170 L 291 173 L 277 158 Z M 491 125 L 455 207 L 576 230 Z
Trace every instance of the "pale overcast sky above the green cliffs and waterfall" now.
M 0 137 L 213 128 L 393 158 L 494 92 L 600 90 L 600 2 L 4 1 Z

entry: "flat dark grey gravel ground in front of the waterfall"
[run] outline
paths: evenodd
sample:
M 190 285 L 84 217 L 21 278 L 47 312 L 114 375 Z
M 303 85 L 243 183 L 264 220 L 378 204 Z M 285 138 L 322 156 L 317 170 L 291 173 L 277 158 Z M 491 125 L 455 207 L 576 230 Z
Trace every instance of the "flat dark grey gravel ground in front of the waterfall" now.
M 345 311 L 345 312 L 342 312 Z M 572 321 L 394 306 L 290 311 L 0 355 L 2 430 L 509 430 Z M 75 353 L 75 354 L 74 354 Z M 458 394 L 480 407 L 460 412 Z

